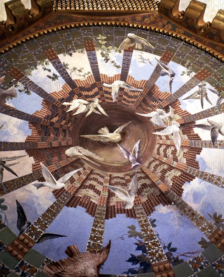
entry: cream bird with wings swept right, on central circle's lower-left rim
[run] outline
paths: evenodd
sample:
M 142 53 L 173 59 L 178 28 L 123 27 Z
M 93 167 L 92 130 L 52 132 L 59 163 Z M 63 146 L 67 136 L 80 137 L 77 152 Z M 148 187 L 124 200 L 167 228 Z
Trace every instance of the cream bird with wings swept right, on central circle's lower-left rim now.
M 82 148 L 81 146 L 75 146 L 75 147 L 71 147 L 71 148 L 67 149 L 65 151 L 65 155 L 67 155 L 68 157 L 72 157 L 72 158 L 79 157 L 79 158 L 89 161 L 97 166 L 100 166 L 100 165 L 93 162 L 92 160 L 88 159 L 86 156 L 89 156 L 89 157 L 99 160 L 101 162 L 104 161 L 104 158 L 96 155 L 95 153 L 88 151 L 87 149 Z

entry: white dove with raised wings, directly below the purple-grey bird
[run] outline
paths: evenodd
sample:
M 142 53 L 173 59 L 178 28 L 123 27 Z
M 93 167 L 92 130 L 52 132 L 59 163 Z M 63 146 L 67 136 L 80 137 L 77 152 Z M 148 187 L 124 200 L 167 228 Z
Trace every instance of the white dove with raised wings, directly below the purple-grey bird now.
M 114 191 L 124 201 L 124 209 L 132 209 L 134 205 L 135 195 L 138 190 L 137 174 L 135 174 L 135 176 L 132 178 L 129 184 L 128 191 L 115 186 L 106 186 L 106 187 L 108 187 L 111 191 Z

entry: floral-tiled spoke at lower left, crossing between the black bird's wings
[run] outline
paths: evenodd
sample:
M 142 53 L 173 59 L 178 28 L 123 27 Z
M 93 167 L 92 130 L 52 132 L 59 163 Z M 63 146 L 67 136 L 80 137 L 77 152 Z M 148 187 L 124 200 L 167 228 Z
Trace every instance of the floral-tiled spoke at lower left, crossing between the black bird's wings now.
M 90 172 L 90 168 L 82 172 L 83 180 Z M 78 189 L 78 187 L 79 186 L 76 185 L 76 189 Z M 73 193 L 75 193 L 75 191 L 73 191 Z M 64 191 L 34 223 L 7 247 L 7 251 L 18 260 L 21 260 L 56 219 L 72 195 L 73 194 L 69 193 L 69 191 Z

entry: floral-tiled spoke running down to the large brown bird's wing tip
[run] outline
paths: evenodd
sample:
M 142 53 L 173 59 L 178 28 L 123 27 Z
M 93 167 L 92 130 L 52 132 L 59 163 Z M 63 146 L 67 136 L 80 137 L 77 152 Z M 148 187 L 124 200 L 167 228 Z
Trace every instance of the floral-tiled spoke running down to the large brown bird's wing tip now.
M 95 211 L 92 228 L 90 231 L 86 251 L 100 250 L 102 248 L 103 233 L 106 217 L 106 203 L 108 198 L 108 188 L 105 185 L 109 184 L 109 174 L 105 174 L 103 187 L 98 199 L 98 205 Z

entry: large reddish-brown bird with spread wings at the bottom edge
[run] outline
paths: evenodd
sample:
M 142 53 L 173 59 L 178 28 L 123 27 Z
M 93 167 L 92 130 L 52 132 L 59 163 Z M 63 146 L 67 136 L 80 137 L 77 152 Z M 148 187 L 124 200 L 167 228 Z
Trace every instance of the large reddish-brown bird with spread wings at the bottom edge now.
M 65 250 L 67 258 L 45 265 L 42 272 L 49 277 L 98 277 L 99 268 L 109 255 L 110 241 L 100 250 L 79 252 L 76 245 Z

